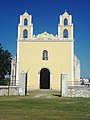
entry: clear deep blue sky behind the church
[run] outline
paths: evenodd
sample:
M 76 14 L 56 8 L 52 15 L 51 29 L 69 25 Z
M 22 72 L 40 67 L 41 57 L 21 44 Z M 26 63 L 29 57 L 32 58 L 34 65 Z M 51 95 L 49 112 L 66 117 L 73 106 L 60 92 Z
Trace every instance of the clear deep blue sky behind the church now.
M 81 77 L 90 78 L 90 0 L 0 0 L 0 43 L 12 57 L 16 54 L 19 17 L 32 15 L 34 34 L 58 33 L 59 15 L 73 16 L 75 54 L 80 59 Z

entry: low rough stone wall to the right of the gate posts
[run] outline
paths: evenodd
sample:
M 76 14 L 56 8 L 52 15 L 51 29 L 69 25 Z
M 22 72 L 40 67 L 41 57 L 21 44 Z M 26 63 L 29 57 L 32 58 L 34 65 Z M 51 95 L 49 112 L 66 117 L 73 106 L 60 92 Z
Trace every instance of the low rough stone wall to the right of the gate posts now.
M 90 97 L 90 86 L 68 86 L 68 97 Z

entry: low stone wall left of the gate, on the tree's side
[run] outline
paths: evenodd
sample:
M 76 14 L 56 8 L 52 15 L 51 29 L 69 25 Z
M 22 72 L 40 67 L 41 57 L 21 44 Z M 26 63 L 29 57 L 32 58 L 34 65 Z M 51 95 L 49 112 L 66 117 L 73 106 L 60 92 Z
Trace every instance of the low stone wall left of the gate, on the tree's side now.
M 18 86 L 0 86 L 0 96 L 19 95 Z

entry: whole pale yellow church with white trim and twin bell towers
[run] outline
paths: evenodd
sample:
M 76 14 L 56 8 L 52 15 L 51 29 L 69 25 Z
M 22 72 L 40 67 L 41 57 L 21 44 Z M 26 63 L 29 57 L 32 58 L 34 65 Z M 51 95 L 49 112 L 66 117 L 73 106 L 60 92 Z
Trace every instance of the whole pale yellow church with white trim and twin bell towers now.
M 46 31 L 33 34 L 32 16 L 25 11 L 18 24 L 17 53 L 11 65 L 11 85 L 20 85 L 26 74 L 27 90 L 61 89 L 61 75 L 67 74 L 68 86 L 80 81 L 80 61 L 74 54 L 72 15 L 59 17 L 57 35 Z

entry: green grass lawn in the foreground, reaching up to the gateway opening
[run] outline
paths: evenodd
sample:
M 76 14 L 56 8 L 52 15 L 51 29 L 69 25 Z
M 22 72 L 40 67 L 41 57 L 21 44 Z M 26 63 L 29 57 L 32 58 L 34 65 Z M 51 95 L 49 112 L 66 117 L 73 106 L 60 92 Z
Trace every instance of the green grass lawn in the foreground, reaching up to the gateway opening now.
M 52 97 L 33 98 L 36 94 Z M 90 120 L 90 98 L 61 98 L 48 91 L 4 96 L 0 97 L 0 120 Z

